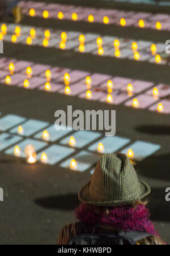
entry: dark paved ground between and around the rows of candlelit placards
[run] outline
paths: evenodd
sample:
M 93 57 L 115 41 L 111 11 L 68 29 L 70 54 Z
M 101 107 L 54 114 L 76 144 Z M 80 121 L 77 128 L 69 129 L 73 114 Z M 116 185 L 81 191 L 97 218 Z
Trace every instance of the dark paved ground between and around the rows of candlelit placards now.
M 52 1 L 46 1 L 52 2 Z M 130 5 L 131 6 L 131 5 Z M 99 32 L 104 35 L 119 35 L 163 42 L 168 33 L 138 28 L 98 26 L 97 24 L 58 22 L 55 20 L 25 19 L 24 24 L 42 27 L 69 28 L 70 30 Z M 91 72 L 121 75 L 147 81 L 169 83 L 169 67 L 114 60 L 71 51 L 62 52 L 41 47 L 27 47 L 5 43 L 6 57 L 31 60 L 37 63 L 70 67 Z M 97 64 L 97 65 L 96 65 Z M 18 114 L 27 118 L 54 123 L 54 112 L 74 109 L 111 110 L 113 106 L 99 102 L 87 102 L 60 94 L 47 94 L 37 90 L 25 90 L 12 86 L 0 86 L 0 111 L 3 114 Z M 150 196 L 151 219 L 161 236 L 170 244 L 170 205 L 165 202 L 165 188 L 169 187 L 170 124 L 168 115 L 146 110 L 135 110 L 122 105 L 117 111 L 117 135 L 130 139 L 158 143 L 162 149 L 139 163 L 137 171 L 152 188 Z M 25 164 L 23 160 L 0 153 L 0 185 L 5 200 L 0 203 L 1 244 L 55 244 L 62 226 L 73 221 L 73 211 L 78 205 L 77 192 L 90 179 L 90 174 L 75 173 L 56 166 L 36 163 Z

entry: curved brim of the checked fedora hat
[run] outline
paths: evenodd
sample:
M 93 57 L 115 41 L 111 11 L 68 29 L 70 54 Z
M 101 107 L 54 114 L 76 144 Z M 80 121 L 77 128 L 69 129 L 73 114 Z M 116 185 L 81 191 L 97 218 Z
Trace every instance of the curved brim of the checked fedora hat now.
M 96 205 L 96 206 L 103 206 L 103 207 L 116 207 L 116 206 L 121 206 L 121 205 L 129 205 L 137 202 L 138 200 L 142 200 L 146 196 L 148 196 L 151 192 L 150 186 L 144 182 L 144 181 L 139 181 L 140 187 L 141 187 L 141 193 L 138 196 L 138 198 L 133 198 L 130 200 L 114 200 L 114 201 L 109 201 L 109 202 L 96 202 L 92 196 L 89 193 L 89 186 L 91 182 L 88 182 L 80 191 L 78 194 L 78 199 L 82 203 L 87 203 L 91 205 Z

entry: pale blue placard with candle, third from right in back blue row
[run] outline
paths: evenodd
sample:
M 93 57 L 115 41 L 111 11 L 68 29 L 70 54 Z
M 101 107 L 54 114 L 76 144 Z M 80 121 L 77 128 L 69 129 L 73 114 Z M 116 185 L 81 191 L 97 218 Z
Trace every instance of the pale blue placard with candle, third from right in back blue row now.
M 84 146 L 90 144 L 92 141 L 101 137 L 101 133 L 92 131 L 77 131 L 70 136 L 67 136 L 65 139 L 59 141 L 59 143 L 63 145 L 69 145 L 69 140 L 72 136 L 75 139 L 75 148 L 83 148 Z

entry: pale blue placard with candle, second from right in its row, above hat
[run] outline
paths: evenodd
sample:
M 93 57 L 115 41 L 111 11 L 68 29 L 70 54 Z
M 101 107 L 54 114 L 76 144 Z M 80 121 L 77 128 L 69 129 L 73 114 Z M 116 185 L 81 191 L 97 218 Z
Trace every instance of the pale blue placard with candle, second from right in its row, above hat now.
M 98 153 L 101 153 L 101 154 L 114 153 L 114 152 L 117 152 L 117 150 L 121 149 L 123 146 L 127 145 L 129 142 L 130 142 L 129 139 L 118 137 L 118 136 L 104 137 L 103 139 L 92 144 L 88 148 L 88 150 L 97 152 L 99 143 L 102 143 L 104 146 L 104 149 Z

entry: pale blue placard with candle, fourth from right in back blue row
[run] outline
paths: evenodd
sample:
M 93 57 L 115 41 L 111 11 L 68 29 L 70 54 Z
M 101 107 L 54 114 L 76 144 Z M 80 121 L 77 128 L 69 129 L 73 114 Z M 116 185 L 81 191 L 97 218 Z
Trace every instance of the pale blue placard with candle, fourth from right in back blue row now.
M 52 142 L 61 139 L 62 137 L 68 135 L 68 133 L 73 131 L 73 130 L 68 130 L 66 127 L 63 127 L 63 129 L 57 130 L 57 129 L 55 129 L 54 124 L 51 125 L 50 127 L 47 127 L 45 130 L 49 134 L 49 137 L 46 139 L 46 141 L 52 141 Z M 44 139 L 42 139 L 43 132 L 44 131 L 41 131 L 41 132 L 37 133 L 35 136 L 33 136 L 33 137 L 35 139 L 44 140 Z

